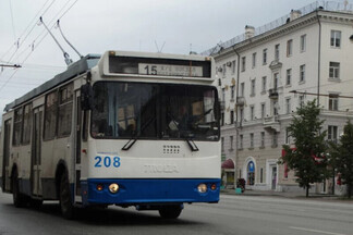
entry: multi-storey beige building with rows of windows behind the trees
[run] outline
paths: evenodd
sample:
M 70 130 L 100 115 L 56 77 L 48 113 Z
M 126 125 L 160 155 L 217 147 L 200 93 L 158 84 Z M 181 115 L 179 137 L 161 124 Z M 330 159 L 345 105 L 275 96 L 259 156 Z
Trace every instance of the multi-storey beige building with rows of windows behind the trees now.
M 315 2 L 259 28 L 245 26 L 203 54 L 217 63 L 222 160 L 234 164 L 224 170 L 228 184 L 241 177 L 247 188 L 297 190 L 293 172 L 277 163 L 282 145 L 293 145 L 287 127 L 296 108 L 317 99 L 332 141 L 353 116 L 353 5 Z M 315 189 L 331 191 L 332 180 Z

